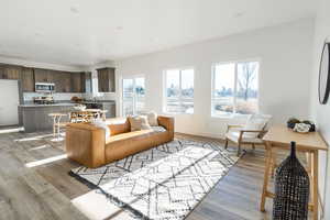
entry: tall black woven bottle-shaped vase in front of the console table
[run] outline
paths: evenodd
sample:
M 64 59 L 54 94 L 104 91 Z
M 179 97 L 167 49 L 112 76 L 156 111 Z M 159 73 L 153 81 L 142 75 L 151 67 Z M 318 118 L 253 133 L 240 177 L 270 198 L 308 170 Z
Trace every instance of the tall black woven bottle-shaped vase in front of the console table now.
M 309 177 L 296 156 L 296 142 L 290 155 L 278 166 L 275 177 L 274 220 L 307 220 Z

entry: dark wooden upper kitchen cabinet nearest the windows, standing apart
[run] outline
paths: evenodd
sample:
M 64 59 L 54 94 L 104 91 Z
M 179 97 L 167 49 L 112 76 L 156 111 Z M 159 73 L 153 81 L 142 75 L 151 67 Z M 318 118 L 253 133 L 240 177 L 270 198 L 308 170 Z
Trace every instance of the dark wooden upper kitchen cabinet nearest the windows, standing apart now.
M 99 92 L 116 92 L 114 68 L 107 67 L 97 70 Z

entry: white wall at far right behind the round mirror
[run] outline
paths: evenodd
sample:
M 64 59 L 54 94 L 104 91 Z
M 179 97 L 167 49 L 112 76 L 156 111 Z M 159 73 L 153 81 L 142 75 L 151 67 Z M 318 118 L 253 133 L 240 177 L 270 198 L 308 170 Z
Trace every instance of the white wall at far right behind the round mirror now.
M 315 32 L 315 46 L 314 46 L 314 67 L 311 78 L 311 116 L 317 122 L 317 127 L 322 133 L 323 138 L 330 143 L 330 101 L 327 105 L 320 105 L 318 101 L 318 70 L 319 63 L 324 41 L 330 42 L 330 1 L 321 0 L 317 19 L 316 19 L 316 32 Z M 328 153 L 320 153 L 319 163 L 319 190 L 324 200 L 324 219 L 330 219 L 330 164 L 327 163 L 330 157 L 330 151 Z M 324 188 L 326 183 L 326 188 Z

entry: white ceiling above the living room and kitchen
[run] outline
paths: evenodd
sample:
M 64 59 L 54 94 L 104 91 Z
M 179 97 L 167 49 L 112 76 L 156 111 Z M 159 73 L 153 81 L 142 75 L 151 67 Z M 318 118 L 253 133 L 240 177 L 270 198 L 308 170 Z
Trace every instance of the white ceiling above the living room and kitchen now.
M 65 65 L 314 16 L 315 0 L 1 0 L 0 56 Z

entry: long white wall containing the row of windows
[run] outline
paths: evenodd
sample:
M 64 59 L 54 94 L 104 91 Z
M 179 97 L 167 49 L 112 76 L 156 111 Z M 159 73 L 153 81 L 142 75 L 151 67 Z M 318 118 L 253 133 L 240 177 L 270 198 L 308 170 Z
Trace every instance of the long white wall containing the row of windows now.
M 284 123 L 292 116 L 306 119 L 309 116 L 312 37 L 314 20 L 304 19 L 117 61 L 116 67 L 120 77 L 145 75 L 146 108 L 162 113 L 163 70 L 193 66 L 195 68 L 195 114 L 176 116 L 175 129 L 178 132 L 219 136 L 224 132 L 226 123 L 232 123 L 237 119 L 210 117 L 211 65 L 248 58 L 260 59 L 261 112 L 273 114 L 277 123 Z M 121 103 L 118 103 L 120 107 Z

